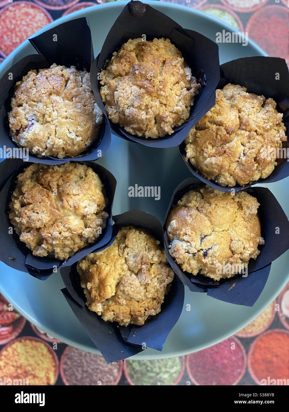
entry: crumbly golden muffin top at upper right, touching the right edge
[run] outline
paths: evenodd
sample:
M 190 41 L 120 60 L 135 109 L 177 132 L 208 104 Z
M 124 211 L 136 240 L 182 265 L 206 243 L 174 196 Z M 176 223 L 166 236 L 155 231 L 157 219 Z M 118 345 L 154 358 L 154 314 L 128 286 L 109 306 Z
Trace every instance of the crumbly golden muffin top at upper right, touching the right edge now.
M 287 140 L 282 116 L 272 98 L 227 84 L 216 90 L 216 104 L 186 137 L 186 160 L 221 186 L 265 179 Z

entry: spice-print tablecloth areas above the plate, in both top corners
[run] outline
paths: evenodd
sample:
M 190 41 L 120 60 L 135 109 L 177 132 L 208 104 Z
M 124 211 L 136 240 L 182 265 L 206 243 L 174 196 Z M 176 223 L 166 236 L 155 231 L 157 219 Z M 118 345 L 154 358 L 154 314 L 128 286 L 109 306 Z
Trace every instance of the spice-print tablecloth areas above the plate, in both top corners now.
M 6 56 L 35 31 L 76 10 L 113 0 L 0 0 L 0 54 Z M 287 0 L 161 0 L 203 10 L 251 39 L 270 56 L 288 59 Z

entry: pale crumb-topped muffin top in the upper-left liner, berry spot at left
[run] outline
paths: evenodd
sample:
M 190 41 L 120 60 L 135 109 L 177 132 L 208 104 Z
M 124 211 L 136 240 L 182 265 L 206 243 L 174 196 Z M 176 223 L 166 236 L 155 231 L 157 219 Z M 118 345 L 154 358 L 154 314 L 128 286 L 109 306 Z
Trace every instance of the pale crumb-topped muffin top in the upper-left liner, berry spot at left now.
M 11 108 L 12 140 L 38 157 L 79 155 L 95 140 L 103 118 L 90 74 L 56 64 L 17 82 Z

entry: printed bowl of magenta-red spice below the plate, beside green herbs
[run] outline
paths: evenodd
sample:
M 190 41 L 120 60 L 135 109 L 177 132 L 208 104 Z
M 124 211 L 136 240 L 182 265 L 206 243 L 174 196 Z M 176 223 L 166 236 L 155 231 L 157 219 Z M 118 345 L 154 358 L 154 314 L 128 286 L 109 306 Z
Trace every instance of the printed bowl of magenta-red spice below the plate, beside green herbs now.
M 231 349 L 231 344 L 235 349 Z M 186 359 L 187 372 L 195 385 L 237 385 L 246 370 L 246 352 L 235 336 Z

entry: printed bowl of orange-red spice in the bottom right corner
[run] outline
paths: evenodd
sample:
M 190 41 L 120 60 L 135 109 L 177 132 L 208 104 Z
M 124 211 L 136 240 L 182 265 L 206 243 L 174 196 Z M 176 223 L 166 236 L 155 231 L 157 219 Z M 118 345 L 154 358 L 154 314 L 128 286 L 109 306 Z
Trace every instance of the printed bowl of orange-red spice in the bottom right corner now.
M 288 379 L 289 382 L 289 332 L 272 329 L 257 337 L 248 353 L 248 369 L 258 384 L 268 379 Z M 271 382 L 272 383 L 272 382 Z M 265 383 L 266 384 L 266 383 Z M 267 383 L 268 384 L 268 383 Z

